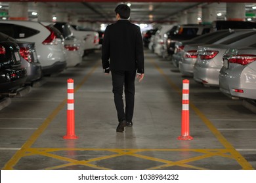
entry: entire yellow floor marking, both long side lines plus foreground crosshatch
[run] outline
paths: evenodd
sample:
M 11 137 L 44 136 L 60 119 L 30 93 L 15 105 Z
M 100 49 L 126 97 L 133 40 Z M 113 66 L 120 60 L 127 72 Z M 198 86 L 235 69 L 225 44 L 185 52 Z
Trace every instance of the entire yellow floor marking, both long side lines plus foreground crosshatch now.
M 149 59 L 150 62 L 156 67 L 156 69 L 160 72 L 162 76 L 165 77 L 167 82 L 170 84 L 171 88 L 173 88 L 176 92 L 181 93 L 181 89 L 179 89 L 172 81 L 171 79 L 165 75 L 165 73 L 161 70 L 160 67 L 152 60 Z M 75 91 L 77 91 L 89 78 L 89 76 L 95 71 L 95 69 L 98 67 L 99 63 L 96 63 L 95 67 L 85 76 L 85 78 L 80 82 L 80 84 L 75 88 Z M 179 166 L 184 167 L 187 169 L 205 169 L 204 167 L 200 166 L 194 166 L 189 165 L 187 163 L 200 161 L 202 159 L 207 158 L 213 158 L 213 157 L 221 157 L 221 158 L 228 158 L 236 161 L 241 169 L 253 169 L 253 167 L 246 161 L 246 159 L 237 152 L 232 144 L 228 142 L 223 135 L 214 127 L 213 124 L 203 115 L 203 113 L 193 104 L 190 102 L 190 107 L 196 114 L 202 119 L 203 123 L 211 130 L 211 132 L 217 137 L 219 142 L 223 144 L 225 149 L 100 149 L 100 148 L 31 148 L 33 143 L 38 139 L 38 137 L 45 131 L 47 126 L 53 121 L 55 116 L 60 112 L 60 110 L 64 107 L 66 103 L 66 99 L 56 107 L 53 112 L 48 116 L 48 118 L 43 122 L 43 124 L 33 133 L 33 135 L 28 139 L 28 141 L 25 142 L 25 144 L 22 146 L 14 156 L 7 162 L 5 167 L 3 169 L 15 169 L 15 166 L 19 163 L 20 160 L 24 158 L 28 158 L 30 156 L 43 156 L 53 159 L 58 159 L 60 161 L 64 161 L 66 163 L 62 163 L 60 165 L 55 165 L 54 167 L 47 167 L 45 169 L 64 169 L 66 167 L 70 167 L 73 165 L 84 165 L 87 167 L 91 167 L 93 169 L 110 169 L 108 167 L 98 166 L 94 165 L 96 161 L 100 160 L 108 160 L 110 159 L 112 161 L 113 158 L 121 157 L 121 156 L 131 156 L 133 158 L 139 158 L 144 159 L 148 161 L 155 161 L 158 163 L 162 163 L 161 165 L 157 165 L 154 167 L 148 167 L 148 169 L 163 169 L 166 167 L 173 167 L 173 166 Z M 108 155 L 102 155 L 100 157 L 91 158 L 91 159 L 83 159 L 83 160 L 77 160 L 74 158 L 69 158 L 65 156 L 60 156 L 58 154 L 54 154 L 54 152 L 60 152 L 60 151 L 66 151 L 66 152 L 90 152 L 90 151 L 100 151 L 100 152 L 108 152 L 112 154 Z M 142 155 L 140 153 L 142 152 L 196 152 L 200 153 L 198 156 L 193 156 L 190 158 L 184 158 L 177 161 L 171 161 L 168 159 L 160 159 L 155 158 L 152 156 L 146 156 Z

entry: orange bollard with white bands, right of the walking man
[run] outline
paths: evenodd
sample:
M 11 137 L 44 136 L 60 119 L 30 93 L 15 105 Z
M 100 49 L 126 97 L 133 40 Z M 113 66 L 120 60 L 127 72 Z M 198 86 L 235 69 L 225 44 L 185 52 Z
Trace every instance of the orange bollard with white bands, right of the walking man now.
M 182 84 L 181 136 L 177 139 L 190 141 L 193 137 L 189 135 L 189 80 L 183 80 Z

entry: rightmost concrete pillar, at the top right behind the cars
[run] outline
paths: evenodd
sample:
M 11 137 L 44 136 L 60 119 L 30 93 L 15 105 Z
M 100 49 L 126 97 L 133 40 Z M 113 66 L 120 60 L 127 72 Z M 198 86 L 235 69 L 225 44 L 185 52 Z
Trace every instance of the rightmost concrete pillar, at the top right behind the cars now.
M 245 20 L 245 3 L 226 3 L 226 20 Z

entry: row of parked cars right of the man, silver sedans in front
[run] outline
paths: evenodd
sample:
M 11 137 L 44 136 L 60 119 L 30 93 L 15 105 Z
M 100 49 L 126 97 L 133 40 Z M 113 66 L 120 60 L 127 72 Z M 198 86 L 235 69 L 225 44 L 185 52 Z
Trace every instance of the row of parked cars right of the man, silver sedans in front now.
M 256 29 L 252 28 L 256 23 L 243 25 L 243 29 L 210 27 L 208 33 L 173 41 L 173 65 L 183 76 L 191 76 L 203 86 L 219 87 L 228 97 L 256 101 Z

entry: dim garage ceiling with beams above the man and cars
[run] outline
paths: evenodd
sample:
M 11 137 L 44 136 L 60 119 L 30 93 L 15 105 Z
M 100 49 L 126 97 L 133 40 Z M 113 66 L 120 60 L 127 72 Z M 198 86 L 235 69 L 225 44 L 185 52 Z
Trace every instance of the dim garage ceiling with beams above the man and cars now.
M 77 16 L 79 22 L 113 22 L 115 21 L 114 8 L 122 1 L 117 0 L 2 0 L 0 5 L 3 6 L 2 10 L 8 10 L 9 2 L 28 2 L 29 5 L 29 17 L 36 18 L 31 13 L 37 12 L 37 2 L 45 3 L 49 7 L 49 12 L 56 14 L 56 12 L 66 12 L 69 16 Z M 256 6 L 255 0 L 231 0 L 231 1 L 214 1 L 214 0 L 131 0 L 125 1 L 131 3 L 131 21 L 148 23 L 148 22 L 175 22 L 177 16 L 181 16 L 179 13 L 184 11 L 190 11 L 195 8 L 199 8 L 205 5 L 215 5 L 216 11 L 221 12 L 223 16 L 217 19 L 224 19 L 226 14 L 226 2 L 247 2 L 245 3 L 246 12 L 256 14 L 256 9 L 252 7 Z M 217 2 L 217 3 L 216 3 Z M 253 3 L 254 2 L 254 3 Z M 198 11 L 198 16 L 202 16 L 202 12 Z M 252 18 L 255 18 L 252 16 Z

